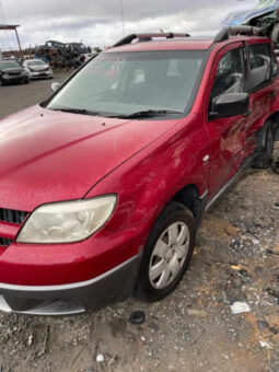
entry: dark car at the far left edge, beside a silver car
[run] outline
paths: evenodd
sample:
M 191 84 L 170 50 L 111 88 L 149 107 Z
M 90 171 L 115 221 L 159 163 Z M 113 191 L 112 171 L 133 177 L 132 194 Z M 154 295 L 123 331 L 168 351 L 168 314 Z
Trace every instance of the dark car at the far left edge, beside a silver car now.
M 28 83 L 30 77 L 27 72 L 16 61 L 0 61 L 0 81 L 2 85 L 9 83 Z

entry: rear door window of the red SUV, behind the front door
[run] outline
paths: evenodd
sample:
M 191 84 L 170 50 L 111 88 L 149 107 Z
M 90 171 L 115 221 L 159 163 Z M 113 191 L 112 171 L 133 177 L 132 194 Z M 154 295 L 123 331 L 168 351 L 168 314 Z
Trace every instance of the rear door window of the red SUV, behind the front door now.
M 249 90 L 265 84 L 270 80 L 271 50 L 268 44 L 248 47 L 249 54 Z

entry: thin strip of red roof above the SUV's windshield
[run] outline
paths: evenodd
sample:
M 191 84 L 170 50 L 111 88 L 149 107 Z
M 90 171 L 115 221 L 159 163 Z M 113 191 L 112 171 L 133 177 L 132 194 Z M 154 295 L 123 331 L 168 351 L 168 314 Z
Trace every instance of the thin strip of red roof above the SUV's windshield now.
M 267 40 L 261 36 L 230 36 L 228 39 L 222 40 L 222 45 L 245 42 L 251 39 Z M 213 44 L 221 44 L 214 40 L 214 37 L 185 37 L 185 38 L 170 38 L 170 39 L 152 39 L 148 42 L 136 42 L 125 44 L 117 47 L 112 47 L 105 53 L 119 53 L 119 51 L 155 51 L 155 50 L 208 50 Z

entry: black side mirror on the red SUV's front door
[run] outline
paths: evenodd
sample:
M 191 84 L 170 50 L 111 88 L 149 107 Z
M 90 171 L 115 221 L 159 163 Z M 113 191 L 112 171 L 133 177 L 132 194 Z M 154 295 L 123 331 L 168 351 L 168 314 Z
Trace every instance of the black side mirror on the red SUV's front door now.
M 247 93 L 225 93 L 212 103 L 212 113 L 209 119 L 244 115 L 249 108 L 249 95 Z

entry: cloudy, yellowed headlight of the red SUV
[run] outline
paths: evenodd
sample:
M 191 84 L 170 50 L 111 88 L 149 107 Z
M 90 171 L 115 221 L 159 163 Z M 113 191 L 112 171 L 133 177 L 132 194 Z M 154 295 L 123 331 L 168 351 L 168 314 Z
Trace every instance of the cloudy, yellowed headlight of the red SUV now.
M 54 244 L 82 241 L 105 224 L 116 201 L 116 195 L 108 195 L 38 207 L 26 220 L 16 242 Z

